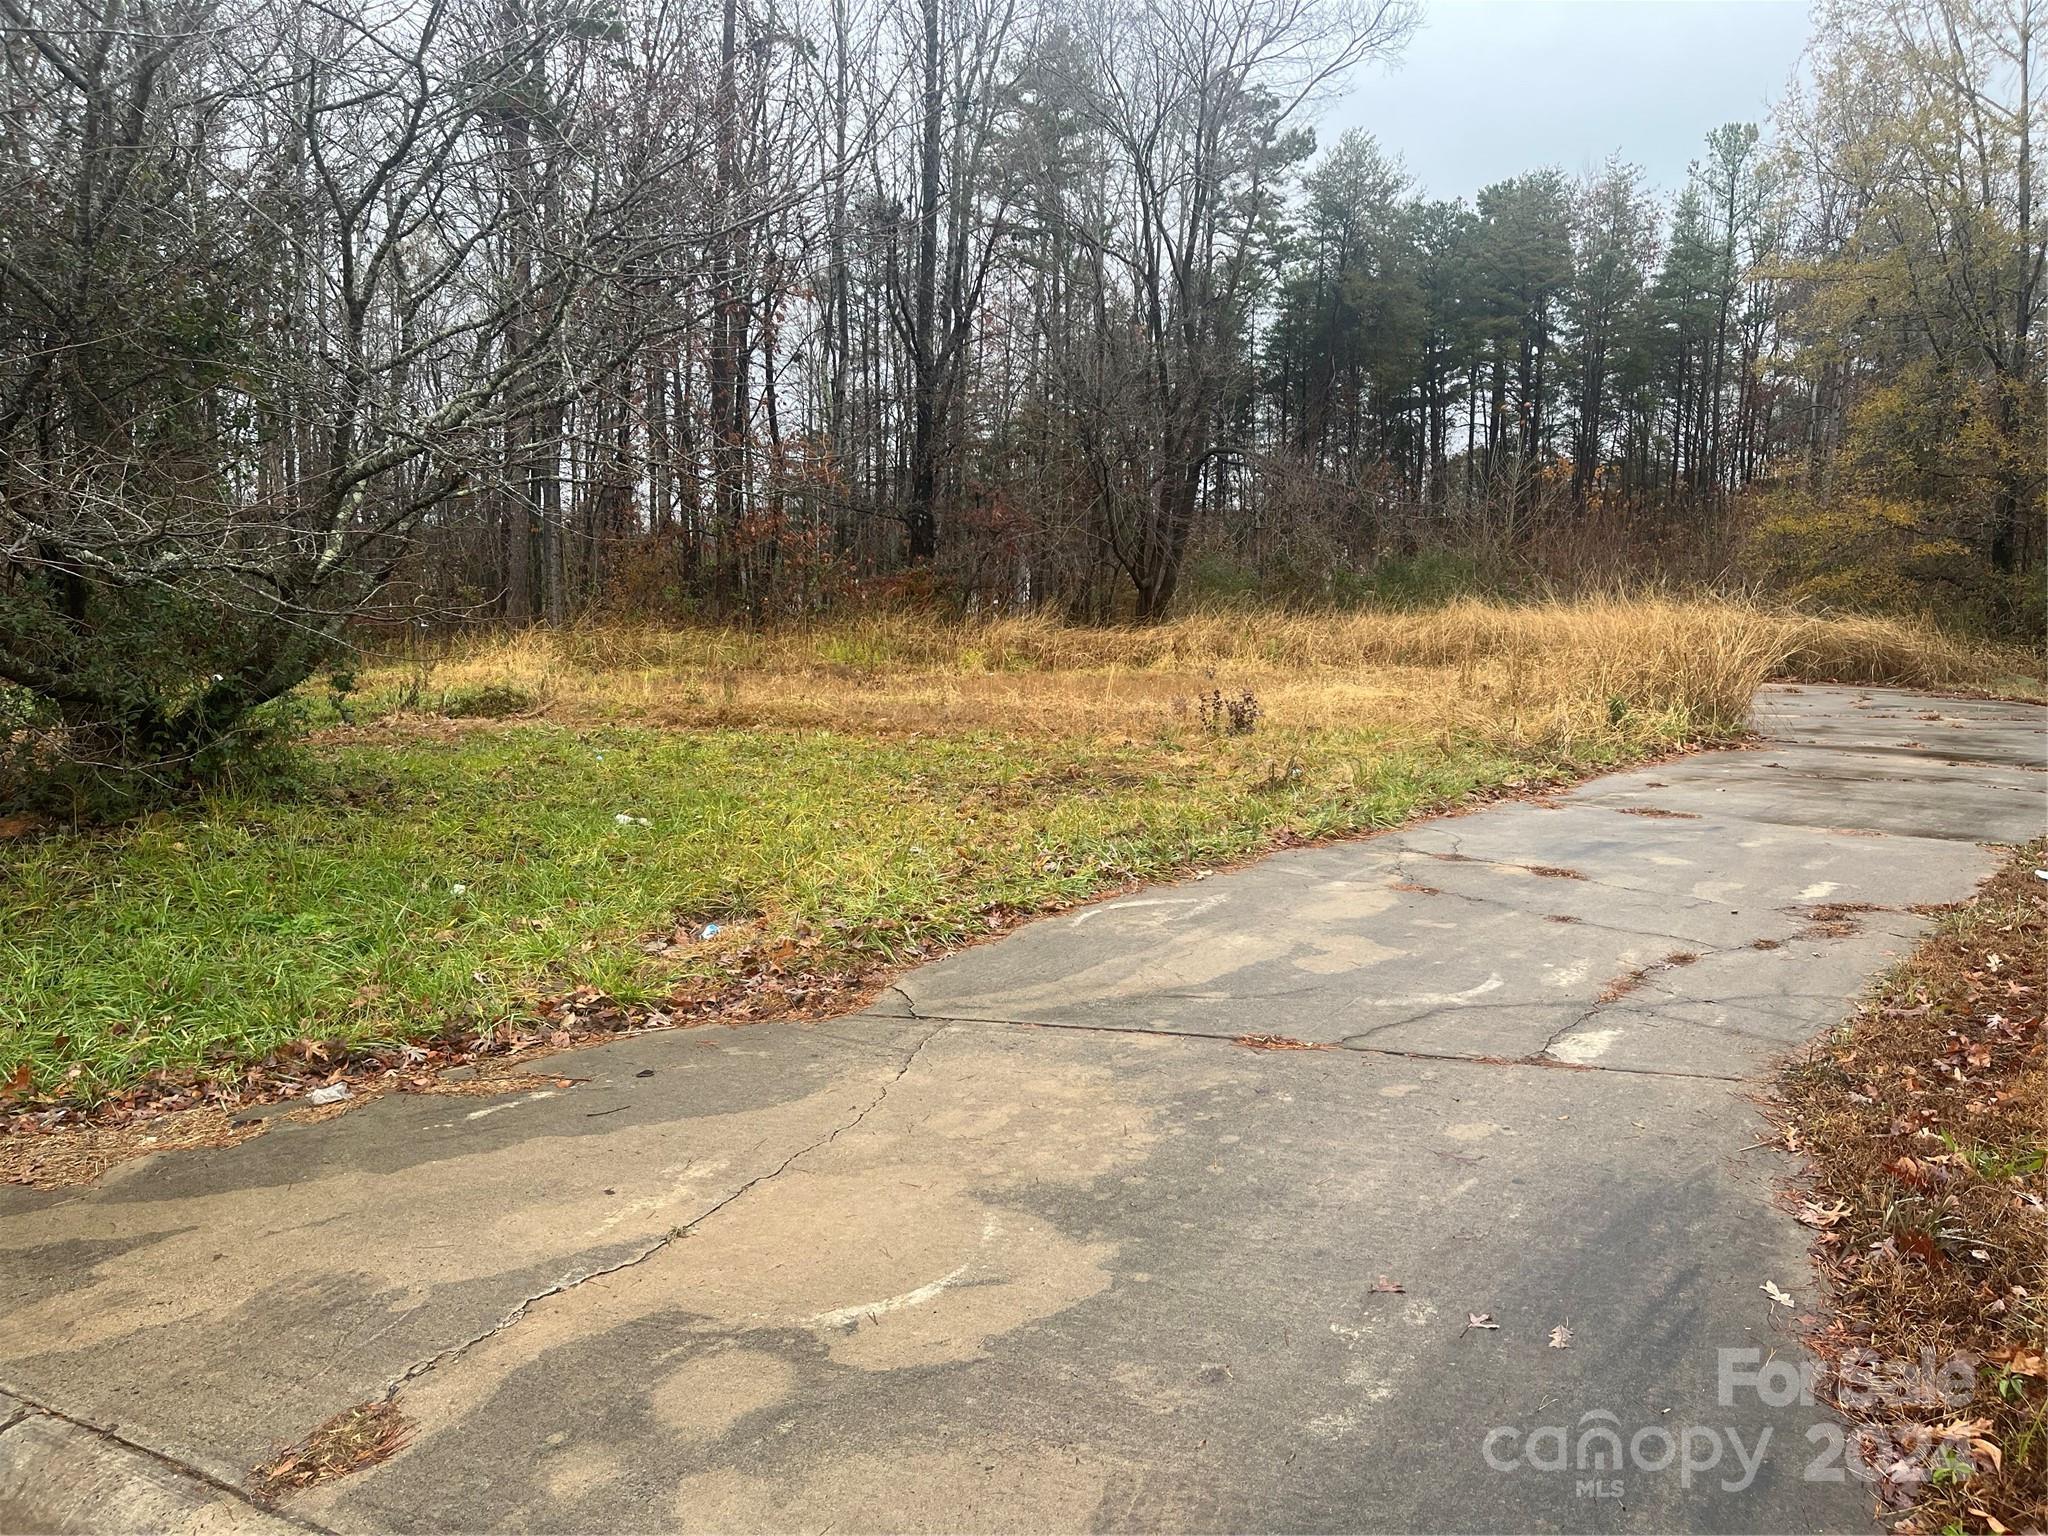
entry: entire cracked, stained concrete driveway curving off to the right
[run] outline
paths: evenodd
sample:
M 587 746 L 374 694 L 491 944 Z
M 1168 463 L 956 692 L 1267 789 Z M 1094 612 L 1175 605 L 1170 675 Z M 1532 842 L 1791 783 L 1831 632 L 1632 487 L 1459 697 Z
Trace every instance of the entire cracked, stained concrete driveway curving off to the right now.
M 0 1528 L 1866 1530 L 1749 1094 L 2044 829 L 2048 737 L 1759 727 L 858 1018 L 0 1190 Z M 244 1501 L 391 1393 L 395 1458 Z

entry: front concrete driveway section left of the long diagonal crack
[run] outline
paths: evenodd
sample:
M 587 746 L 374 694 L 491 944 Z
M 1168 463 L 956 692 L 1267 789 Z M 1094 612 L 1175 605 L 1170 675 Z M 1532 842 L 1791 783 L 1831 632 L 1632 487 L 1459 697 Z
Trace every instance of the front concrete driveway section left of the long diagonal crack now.
M 389 1096 L 88 1192 L 8 1190 L 0 1382 L 244 1477 L 827 1139 L 920 1034 L 643 1036 L 549 1063 L 588 1075 L 549 1098 Z

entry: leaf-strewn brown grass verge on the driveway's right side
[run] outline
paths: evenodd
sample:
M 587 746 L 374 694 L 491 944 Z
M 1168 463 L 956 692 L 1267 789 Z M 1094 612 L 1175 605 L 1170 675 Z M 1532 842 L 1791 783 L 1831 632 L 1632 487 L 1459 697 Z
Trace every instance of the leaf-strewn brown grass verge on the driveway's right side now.
M 1782 1081 L 1833 1282 L 1815 1348 L 1901 1530 L 2048 1530 L 2044 860 L 2019 850 Z

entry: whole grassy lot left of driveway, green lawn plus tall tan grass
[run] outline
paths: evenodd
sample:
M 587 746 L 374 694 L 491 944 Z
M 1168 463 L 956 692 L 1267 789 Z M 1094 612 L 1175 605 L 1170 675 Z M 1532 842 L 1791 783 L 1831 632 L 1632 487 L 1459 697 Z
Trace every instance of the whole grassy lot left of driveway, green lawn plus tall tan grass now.
M 1595 598 L 608 627 L 442 662 L 457 696 L 510 680 L 543 702 L 342 725 L 299 784 L 0 842 L 0 1124 L 836 1012 L 1022 915 L 1735 739 L 1772 672 L 1960 686 L 2013 657 Z M 418 705 L 420 682 L 385 664 L 358 702 Z M 1255 729 L 1200 709 L 1253 688 Z

